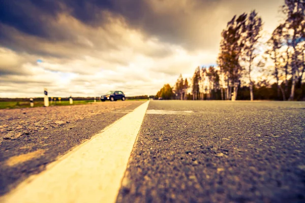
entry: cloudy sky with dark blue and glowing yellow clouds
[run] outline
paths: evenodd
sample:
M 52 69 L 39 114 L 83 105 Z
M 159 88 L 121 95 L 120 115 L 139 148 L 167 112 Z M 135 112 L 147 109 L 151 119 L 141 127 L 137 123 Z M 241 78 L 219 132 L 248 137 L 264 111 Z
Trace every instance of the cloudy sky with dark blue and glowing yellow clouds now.
M 268 35 L 284 0 L 0 1 L 0 97 L 155 95 L 216 64 L 227 22 L 256 10 Z

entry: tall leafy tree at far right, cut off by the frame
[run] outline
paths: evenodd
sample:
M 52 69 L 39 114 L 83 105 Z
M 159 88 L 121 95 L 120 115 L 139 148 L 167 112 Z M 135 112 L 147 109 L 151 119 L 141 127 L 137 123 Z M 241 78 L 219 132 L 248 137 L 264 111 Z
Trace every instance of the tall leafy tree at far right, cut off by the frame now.
M 291 80 L 289 100 L 293 100 L 295 88 L 301 87 L 304 64 L 304 0 L 285 0 L 282 11 L 286 19 L 273 32 L 267 42 L 266 54 L 275 65 L 272 73 L 277 82 L 277 94 L 282 92 L 283 100 L 288 96 L 288 82 Z M 284 88 L 283 88 L 284 87 Z

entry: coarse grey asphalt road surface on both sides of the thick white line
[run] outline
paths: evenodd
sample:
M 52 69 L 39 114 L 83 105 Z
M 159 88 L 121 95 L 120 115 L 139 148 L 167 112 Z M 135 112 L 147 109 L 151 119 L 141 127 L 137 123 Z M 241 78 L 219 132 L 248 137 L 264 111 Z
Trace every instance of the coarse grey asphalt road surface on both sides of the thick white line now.
M 4 140 L 2 194 L 140 104 Z M 8 162 L 33 148 L 42 155 Z M 116 202 L 305 202 L 303 191 L 305 103 L 164 100 L 148 105 Z

